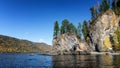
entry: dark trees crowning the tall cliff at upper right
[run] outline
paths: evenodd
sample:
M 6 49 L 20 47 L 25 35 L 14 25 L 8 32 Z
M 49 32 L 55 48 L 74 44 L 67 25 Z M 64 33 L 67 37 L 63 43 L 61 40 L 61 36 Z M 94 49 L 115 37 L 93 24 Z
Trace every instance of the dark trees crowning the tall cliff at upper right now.
M 100 13 L 110 9 L 113 10 L 116 14 L 120 15 L 120 0 L 112 0 L 112 2 L 110 1 L 111 0 L 102 0 L 101 3 L 98 2 L 97 5 L 91 7 L 91 20 L 96 19 Z M 91 23 L 94 23 L 94 21 Z

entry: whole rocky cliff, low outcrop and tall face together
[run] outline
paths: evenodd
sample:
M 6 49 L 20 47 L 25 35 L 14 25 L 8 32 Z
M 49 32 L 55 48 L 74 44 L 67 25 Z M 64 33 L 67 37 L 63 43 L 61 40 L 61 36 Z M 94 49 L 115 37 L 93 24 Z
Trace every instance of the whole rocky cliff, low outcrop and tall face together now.
M 71 54 L 81 51 L 113 51 L 113 35 L 119 27 L 120 17 L 112 10 L 99 14 L 90 25 L 89 42 L 81 42 L 73 33 L 59 35 L 53 39 L 54 54 Z

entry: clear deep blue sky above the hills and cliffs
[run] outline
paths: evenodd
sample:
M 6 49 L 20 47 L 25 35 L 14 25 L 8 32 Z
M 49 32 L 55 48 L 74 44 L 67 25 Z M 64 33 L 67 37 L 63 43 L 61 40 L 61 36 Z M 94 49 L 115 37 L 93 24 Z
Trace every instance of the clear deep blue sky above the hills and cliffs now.
M 89 8 L 101 0 L 0 0 L 0 34 L 52 44 L 53 26 L 68 19 L 90 19 Z

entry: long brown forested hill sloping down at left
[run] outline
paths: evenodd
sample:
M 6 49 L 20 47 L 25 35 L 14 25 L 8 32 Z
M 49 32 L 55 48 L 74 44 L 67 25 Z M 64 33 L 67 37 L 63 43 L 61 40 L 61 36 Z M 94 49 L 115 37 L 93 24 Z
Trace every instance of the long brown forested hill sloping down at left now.
M 46 53 L 51 46 L 45 43 L 35 43 L 14 37 L 0 35 L 0 52 L 41 52 Z

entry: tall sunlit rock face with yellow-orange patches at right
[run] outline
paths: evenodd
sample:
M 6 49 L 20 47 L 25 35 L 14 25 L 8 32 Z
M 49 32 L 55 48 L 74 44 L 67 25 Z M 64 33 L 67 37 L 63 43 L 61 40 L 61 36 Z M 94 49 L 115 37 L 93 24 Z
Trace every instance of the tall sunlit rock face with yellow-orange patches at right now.
M 112 10 L 98 16 L 90 31 L 91 45 L 96 51 L 109 51 L 112 49 L 111 37 L 118 28 L 119 17 Z

